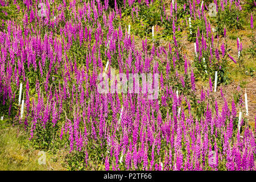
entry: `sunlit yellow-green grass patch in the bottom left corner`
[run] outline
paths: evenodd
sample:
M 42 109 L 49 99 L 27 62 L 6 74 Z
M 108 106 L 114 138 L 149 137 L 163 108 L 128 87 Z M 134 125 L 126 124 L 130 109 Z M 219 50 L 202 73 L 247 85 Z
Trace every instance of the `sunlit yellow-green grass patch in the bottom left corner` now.
M 0 170 L 45 171 L 63 170 L 59 160 L 46 153 L 46 164 L 39 164 L 39 150 L 34 150 L 23 129 L 0 122 Z M 58 155 L 56 155 L 58 156 Z

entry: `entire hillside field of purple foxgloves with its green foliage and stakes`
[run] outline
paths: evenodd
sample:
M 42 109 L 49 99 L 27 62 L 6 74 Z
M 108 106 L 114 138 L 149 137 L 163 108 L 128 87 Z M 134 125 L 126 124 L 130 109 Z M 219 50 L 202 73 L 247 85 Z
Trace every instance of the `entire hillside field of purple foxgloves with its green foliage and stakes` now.
M 228 65 L 244 61 L 240 39 L 236 55 L 225 41 L 242 26 L 241 1 L 0 2 L 10 16 L 0 23 L 0 114 L 35 148 L 65 148 L 69 169 L 255 170 L 247 98 L 238 87 L 229 102 L 221 89 Z M 143 73 L 158 86 L 117 89 Z

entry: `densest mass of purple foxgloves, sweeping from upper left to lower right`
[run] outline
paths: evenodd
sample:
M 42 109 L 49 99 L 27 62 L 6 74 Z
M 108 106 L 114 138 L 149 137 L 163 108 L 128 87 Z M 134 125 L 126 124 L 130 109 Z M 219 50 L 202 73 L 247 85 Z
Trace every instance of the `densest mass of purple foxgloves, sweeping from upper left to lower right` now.
M 14 1 L 24 14 L 22 22 L 6 20 L 0 31 L 0 105 L 8 107 L 10 118 L 14 112 L 19 117 L 17 90 L 20 83 L 26 85 L 20 125 L 31 140 L 36 131 L 51 125 L 69 152 L 84 155 L 86 166 L 99 155 L 106 170 L 255 170 L 254 130 L 243 120 L 238 131 L 237 113 L 242 107 L 233 101 L 229 108 L 222 93 L 224 104 L 219 108 L 211 77 L 209 88 L 197 88 L 195 70 L 180 49 L 177 1 L 162 15 L 172 24 L 174 41 L 166 47 L 148 38 L 140 40 L 142 47 L 136 46 L 133 31 L 128 34 L 119 23 L 123 10 L 116 1 L 113 9 L 108 0 L 40 2 L 47 8 L 43 17 L 38 14 L 38 0 L 22 5 Z M 151 6 L 147 0 L 123 3 L 132 7 L 133 19 L 143 3 Z M 205 59 L 209 63 L 226 55 L 236 63 L 224 43 L 220 48 L 214 45 L 212 26 L 200 5 L 195 0 L 181 5 L 191 19 L 205 22 L 206 34 L 198 28 L 196 36 L 199 60 L 209 52 Z M 221 1 L 218 11 L 229 6 L 240 5 Z M 105 68 L 109 77 L 114 71 L 126 73 L 127 80 L 129 73 L 159 73 L 158 99 L 148 100 L 148 90 L 98 93 L 97 76 Z

